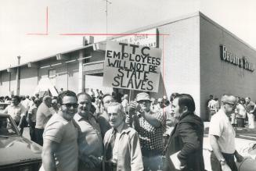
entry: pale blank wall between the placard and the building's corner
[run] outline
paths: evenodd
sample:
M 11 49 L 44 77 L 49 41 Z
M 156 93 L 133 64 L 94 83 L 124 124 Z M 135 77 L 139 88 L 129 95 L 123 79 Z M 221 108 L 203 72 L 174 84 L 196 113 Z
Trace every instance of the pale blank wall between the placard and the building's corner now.
M 160 48 L 163 50 L 163 82 L 158 95 L 164 89 L 171 93 L 191 94 L 196 102 L 196 114 L 200 116 L 200 35 L 199 16 L 158 27 Z

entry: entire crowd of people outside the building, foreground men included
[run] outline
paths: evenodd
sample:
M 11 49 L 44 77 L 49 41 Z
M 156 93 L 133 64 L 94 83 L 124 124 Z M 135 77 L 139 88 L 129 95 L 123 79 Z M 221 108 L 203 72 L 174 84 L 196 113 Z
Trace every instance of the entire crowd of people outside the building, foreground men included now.
M 156 100 L 142 92 L 132 101 L 128 94 L 119 96 L 98 89 L 23 100 L 13 96 L 3 112 L 21 133 L 28 123 L 31 141 L 42 146 L 41 171 L 204 170 L 204 122 L 195 114 L 191 95 L 173 93 Z M 229 118 L 235 113 L 240 125 L 244 110 L 254 113 L 249 100 L 223 94 L 220 103 L 213 96 L 207 102 L 213 170 L 237 170 L 234 157 L 243 160 Z M 177 156 L 178 163 L 170 156 Z

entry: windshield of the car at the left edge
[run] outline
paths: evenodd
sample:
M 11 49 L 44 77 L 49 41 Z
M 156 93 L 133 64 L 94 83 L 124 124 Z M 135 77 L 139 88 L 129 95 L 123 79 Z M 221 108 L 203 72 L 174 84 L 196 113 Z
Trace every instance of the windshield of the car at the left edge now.
M 0 116 L 0 137 L 19 135 L 9 116 Z

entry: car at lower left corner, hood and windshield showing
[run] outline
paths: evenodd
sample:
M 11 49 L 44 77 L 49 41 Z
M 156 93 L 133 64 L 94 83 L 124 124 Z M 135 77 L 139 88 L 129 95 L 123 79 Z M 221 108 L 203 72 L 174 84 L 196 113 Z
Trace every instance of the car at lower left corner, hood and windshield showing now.
M 0 171 L 38 171 L 41 146 L 22 137 L 11 116 L 0 113 Z

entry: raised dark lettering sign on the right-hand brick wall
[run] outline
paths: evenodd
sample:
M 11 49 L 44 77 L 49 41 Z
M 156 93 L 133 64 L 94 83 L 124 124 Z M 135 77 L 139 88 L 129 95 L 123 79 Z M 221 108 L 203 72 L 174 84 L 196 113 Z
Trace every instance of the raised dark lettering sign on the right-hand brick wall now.
M 232 63 L 240 68 L 247 69 L 254 72 L 255 66 L 253 63 L 249 62 L 245 56 L 242 58 L 238 57 L 236 54 L 229 52 L 225 45 L 220 45 L 221 49 L 221 59 L 225 62 Z

